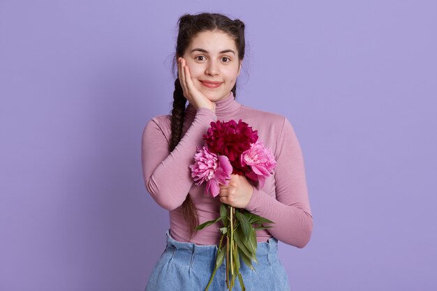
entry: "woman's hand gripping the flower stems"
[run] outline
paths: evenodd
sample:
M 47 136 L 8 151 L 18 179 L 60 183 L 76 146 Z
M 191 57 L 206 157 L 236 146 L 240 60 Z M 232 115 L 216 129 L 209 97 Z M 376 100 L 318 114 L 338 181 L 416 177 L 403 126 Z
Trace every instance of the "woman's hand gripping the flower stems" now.
M 239 174 L 231 174 L 228 186 L 220 185 L 220 201 L 235 208 L 244 208 L 251 200 L 253 186 L 246 177 Z

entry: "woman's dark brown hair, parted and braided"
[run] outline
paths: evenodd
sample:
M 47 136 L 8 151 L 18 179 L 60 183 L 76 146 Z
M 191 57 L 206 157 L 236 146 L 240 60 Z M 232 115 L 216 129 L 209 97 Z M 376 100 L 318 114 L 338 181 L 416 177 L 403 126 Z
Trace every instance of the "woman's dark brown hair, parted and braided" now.
M 190 45 L 191 40 L 202 31 L 223 31 L 228 33 L 235 40 L 235 47 L 238 50 L 239 61 L 244 59 L 245 40 L 244 40 L 244 23 L 240 20 L 231 20 L 229 17 L 218 13 L 200 13 L 198 15 L 185 14 L 179 17 L 179 31 L 177 34 L 176 52 L 172 60 L 172 69 L 175 72 L 177 67 L 177 57 L 182 57 L 186 48 Z M 231 91 L 236 94 L 237 82 Z M 171 112 L 171 131 L 172 137 L 170 140 L 170 152 L 175 149 L 179 141 L 182 139 L 182 126 L 184 124 L 184 116 L 186 110 L 186 98 L 182 90 L 179 77 L 175 80 L 175 91 L 173 91 L 173 109 Z M 199 224 L 197 209 L 191 200 L 188 193 L 186 200 L 182 203 L 182 213 L 190 226 L 190 238 L 195 232 L 195 226 Z

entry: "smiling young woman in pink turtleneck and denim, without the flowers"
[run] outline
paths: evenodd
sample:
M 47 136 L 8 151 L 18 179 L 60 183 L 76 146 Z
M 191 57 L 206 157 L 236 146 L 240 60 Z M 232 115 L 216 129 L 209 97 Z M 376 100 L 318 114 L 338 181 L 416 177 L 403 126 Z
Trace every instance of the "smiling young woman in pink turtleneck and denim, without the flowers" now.
M 217 13 L 183 15 L 175 52 L 175 80 L 171 115 L 152 118 L 142 135 L 142 168 L 151 197 L 170 213 L 167 246 L 146 290 L 204 290 L 214 271 L 220 232 L 218 223 L 203 230 L 196 225 L 219 216 L 221 202 L 246 209 L 274 222 L 257 231 L 255 271 L 242 263 L 246 290 L 290 290 L 278 259 L 277 243 L 303 248 L 313 228 L 302 151 L 286 117 L 255 110 L 235 100 L 237 76 L 244 59 L 244 23 Z M 270 96 L 262 96 L 270 98 Z M 186 101 L 188 106 L 186 107 Z M 205 194 L 191 177 L 196 147 L 202 147 L 211 121 L 242 119 L 258 140 L 272 149 L 274 174 L 262 188 L 232 174 L 217 197 Z M 225 290 L 225 263 L 209 290 Z M 235 288 L 241 290 L 239 281 Z

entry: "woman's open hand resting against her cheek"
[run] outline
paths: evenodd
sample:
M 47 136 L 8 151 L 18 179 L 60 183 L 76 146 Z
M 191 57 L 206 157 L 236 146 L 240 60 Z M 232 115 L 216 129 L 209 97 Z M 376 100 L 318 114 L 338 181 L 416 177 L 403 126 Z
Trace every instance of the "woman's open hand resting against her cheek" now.
M 191 74 L 184 58 L 177 59 L 178 77 L 181 83 L 184 97 L 197 110 L 199 107 L 206 107 L 212 112 L 216 112 L 216 103 L 209 100 L 193 84 Z

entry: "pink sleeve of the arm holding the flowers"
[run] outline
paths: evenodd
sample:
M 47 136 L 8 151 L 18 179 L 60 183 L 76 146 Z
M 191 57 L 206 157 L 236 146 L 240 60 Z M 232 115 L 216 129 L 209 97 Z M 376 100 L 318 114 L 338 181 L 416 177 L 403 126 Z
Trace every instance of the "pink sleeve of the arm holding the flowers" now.
M 273 221 L 273 227 L 267 231 L 276 239 L 303 248 L 311 238 L 313 216 L 309 206 L 302 149 L 286 117 L 276 146 L 275 158 L 276 199 L 262 189 L 253 187 L 246 209 Z

